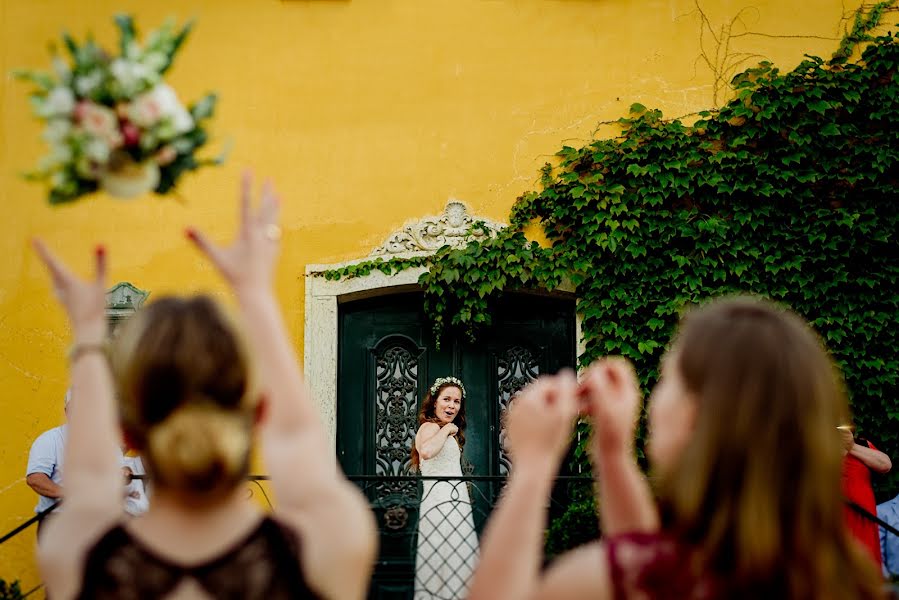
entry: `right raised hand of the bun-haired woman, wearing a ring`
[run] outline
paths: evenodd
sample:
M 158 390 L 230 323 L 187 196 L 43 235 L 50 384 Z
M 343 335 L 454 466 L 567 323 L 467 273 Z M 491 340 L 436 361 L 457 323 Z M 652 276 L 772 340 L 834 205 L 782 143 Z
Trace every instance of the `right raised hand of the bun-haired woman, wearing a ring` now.
M 200 231 L 188 229 L 187 236 L 218 268 L 235 292 L 272 286 L 278 256 L 279 200 L 271 182 L 262 186 L 259 208 L 252 212 L 253 177 L 244 173 L 240 184 L 240 226 L 237 237 L 227 247 L 212 243 Z

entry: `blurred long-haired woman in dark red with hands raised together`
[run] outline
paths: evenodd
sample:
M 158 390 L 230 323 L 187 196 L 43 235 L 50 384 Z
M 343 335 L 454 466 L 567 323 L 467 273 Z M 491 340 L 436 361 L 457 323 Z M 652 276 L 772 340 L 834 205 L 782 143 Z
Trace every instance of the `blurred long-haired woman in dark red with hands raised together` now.
M 519 458 L 482 537 L 471 599 L 884 597 L 843 526 L 835 425 L 846 397 L 811 329 L 764 301 L 715 301 L 685 318 L 661 374 L 647 447 L 657 504 L 636 463 L 640 394 L 626 361 L 598 362 L 577 392 L 565 377 L 520 396 L 509 425 Z M 605 537 L 541 573 L 575 396 L 593 418 Z

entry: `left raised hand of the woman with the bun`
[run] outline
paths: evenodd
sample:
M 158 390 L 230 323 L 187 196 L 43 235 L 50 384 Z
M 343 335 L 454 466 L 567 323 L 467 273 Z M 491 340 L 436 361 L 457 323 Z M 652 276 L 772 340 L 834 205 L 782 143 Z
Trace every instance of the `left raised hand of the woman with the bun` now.
M 106 251 L 94 254 L 94 277 L 82 279 L 57 258 L 39 239 L 32 242 L 47 267 L 53 292 L 72 324 L 76 343 L 100 343 L 106 337 Z

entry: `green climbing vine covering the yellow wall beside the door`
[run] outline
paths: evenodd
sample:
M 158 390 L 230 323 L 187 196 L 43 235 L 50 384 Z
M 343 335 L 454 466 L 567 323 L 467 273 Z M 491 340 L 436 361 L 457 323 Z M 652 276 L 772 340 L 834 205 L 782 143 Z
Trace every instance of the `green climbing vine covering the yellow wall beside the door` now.
M 559 150 L 494 239 L 323 275 L 426 267 L 436 330 L 470 336 L 503 292 L 570 281 L 581 364 L 626 356 L 647 389 L 685 305 L 769 297 L 813 324 L 859 431 L 899 457 L 899 36 L 870 33 L 895 3 L 860 12 L 829 60 L 737 75 L 734 98 L 692 123 L 633 105 L 617 137 Z M 548 245 L 525 236 L 535 222 Z

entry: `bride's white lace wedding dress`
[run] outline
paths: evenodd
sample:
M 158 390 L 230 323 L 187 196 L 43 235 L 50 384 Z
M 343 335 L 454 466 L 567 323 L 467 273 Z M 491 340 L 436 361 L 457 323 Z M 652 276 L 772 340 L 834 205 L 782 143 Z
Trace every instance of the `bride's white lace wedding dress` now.
M 461 459 L 459 443 L 450 436 L 437 456 L 422 460 L 419 468 L 424 476 L 461 477 Z M 422 487 L 415 600 L 465 598 L 478 560 L 468 484 L 462 480 L 426 480 Z

